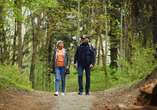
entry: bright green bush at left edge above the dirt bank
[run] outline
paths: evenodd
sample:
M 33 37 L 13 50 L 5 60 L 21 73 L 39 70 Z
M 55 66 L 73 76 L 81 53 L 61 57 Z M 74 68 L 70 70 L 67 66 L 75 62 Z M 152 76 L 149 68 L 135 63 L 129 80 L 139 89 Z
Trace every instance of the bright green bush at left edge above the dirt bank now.
M 15 84 L 17 87 L 30 90 L 31 82 L 25 74 L 21 74 L 22 70 L 17 65 L 0 64 L 0 78 Z M 6 86 L 11 86 L 6 83 Z

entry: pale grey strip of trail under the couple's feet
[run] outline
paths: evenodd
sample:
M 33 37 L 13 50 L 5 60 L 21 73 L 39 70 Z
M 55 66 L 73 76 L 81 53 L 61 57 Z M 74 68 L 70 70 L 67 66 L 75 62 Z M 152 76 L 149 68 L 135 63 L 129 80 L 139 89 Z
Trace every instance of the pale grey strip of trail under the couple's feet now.
M 52 110 L 91 110 L 95 96 L 90 94 L 77 95 L 77 92 L 65 93 L 65 96 L 55 96 L 55 107 Z

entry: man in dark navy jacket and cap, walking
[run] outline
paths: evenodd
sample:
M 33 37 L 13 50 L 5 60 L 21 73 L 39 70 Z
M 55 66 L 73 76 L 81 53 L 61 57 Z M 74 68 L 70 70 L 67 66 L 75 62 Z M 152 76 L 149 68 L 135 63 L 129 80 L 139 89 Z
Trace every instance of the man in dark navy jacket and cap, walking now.
M 82 43 L 77 47 L 74 56 L 74 67 L 78 66 L 78 83 L 79 83 L 79 95 L 83 94 L 83 70 L 86 72 L 86 95 L 89 95 L 90 88 L 90 71 L 94 66 L 95 53 L 92 44 L 89 42 L 89 37 L 83 35 L 81 37 Z M 77 65 L 78 64 L 78 65 Z

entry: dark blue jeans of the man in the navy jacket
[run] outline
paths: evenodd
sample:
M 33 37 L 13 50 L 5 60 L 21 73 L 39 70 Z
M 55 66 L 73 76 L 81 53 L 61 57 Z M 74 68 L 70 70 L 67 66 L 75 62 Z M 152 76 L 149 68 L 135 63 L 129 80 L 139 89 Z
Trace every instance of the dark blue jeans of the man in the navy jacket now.
M 78 64 L 78 83 L 79 83 L 79 91 L 83 92 L 83 70 L 86 72 L 86 93 L 89 92 L 90 88 L 90 70 L 89 65 L 87 64 Z

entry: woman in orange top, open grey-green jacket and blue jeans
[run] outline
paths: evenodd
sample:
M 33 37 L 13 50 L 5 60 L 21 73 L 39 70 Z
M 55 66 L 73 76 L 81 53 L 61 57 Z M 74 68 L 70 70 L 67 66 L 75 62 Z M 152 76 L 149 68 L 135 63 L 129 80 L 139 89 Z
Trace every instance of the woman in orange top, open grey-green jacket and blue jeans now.
M 68 51 L 63 48 L 63 41 L 59 40 L 57 42 L 58 49 L 54 51 L 53 59 L 51 63 L 51 72 L 55 74 L 55 89 L 56 93 L 55 96 L 58 96 L 59 93 L 59 82 L 60 82 L 60 76 L 61 76 L 61 82 L 62 82 L 62 93 L 61 95 L 64 95 L 65 92 L 65 79 L 66 74 L 69 74 L 69 67 L 70 67 L 70 56 Z

